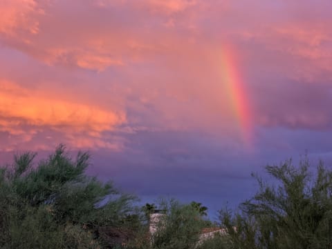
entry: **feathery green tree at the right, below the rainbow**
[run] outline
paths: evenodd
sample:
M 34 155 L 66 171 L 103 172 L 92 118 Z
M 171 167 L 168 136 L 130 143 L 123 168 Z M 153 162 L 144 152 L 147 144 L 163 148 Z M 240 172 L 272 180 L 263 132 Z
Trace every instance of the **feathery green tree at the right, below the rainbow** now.
M 309 169 L 308 159 L 299 167 L 289 160 L 266 166 L 275 185 L 255 176 L 259 191 L 241 213 L 221 212 L 234 248 L 331 248 L 332 172 L 322 162 Z

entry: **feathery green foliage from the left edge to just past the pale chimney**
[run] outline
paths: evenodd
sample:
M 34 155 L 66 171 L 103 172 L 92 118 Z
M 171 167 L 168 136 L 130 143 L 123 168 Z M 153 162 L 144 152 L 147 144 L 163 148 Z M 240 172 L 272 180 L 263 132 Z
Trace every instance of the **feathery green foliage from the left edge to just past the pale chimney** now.
M 16 155 L 0 169 L 0 248 L 192 248 L 206 224 L 201 203 L 161 203 L 165 220 L 153 237 L 142 222 L 155 204 L 85 174 L 89 154 L 73 159 L 62 145 L 33 165 L 36 153 Z

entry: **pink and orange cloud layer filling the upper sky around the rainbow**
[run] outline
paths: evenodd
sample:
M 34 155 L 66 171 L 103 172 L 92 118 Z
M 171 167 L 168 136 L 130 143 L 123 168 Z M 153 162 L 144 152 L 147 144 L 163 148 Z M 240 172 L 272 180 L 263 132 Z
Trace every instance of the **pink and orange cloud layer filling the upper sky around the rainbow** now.
M 237 50 L 236 71 L 249 89 L 256 125 L 326 127 L 326 110 L 279 110 L 257 89 L 268 84 L 273 95 L 288 88 L 271 86 L 272 78 L 296 81 L 305 89 L 308 82 L 329 84 L 332 22 L 327 7 L 327 1 L 301 6 L 248 0 L 4 1 L 0 52 L 15 51 L 29 63 L 21 65 L 10 55 L 10 66 L 6 58 L 0 61 L 0 83 L 6 88 L 0 93 L 2 131 L 22 134 L 23 126 L 15 122 L 56 132 L 68 128 L 64 133 L 79 130 L 80 135 L 89 131 L 87 140 L 64 137 L 77 146 L 109 148 L 113 143 L 107 145 L 100 136 L 124 125 L 123 130 L 133 132 L 203 130 L 239 137 L 221 77 L 225 43 Z M 58 97 L 62 88 L 71 93 Z M 292 94 L 284 106 L 293 104 Z

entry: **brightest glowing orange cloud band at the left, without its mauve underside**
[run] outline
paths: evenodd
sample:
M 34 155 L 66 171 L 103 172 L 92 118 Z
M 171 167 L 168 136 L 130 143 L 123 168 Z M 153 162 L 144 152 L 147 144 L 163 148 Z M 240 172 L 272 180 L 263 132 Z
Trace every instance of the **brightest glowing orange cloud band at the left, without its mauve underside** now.
M 126 121 L 123 112 L 102 110 L 89 103 L 65 101 L 58 96 L 46 96 L 44 92 L 21 88 L 8 81 L 0 81 L 0 117 L 5 120 L 0 123 L 0 129 L 11 134 L 17 134 L 17 126 L 24 123 L 37 128 L 71 128 L 74 132 L 86 131 L 98 135 Z

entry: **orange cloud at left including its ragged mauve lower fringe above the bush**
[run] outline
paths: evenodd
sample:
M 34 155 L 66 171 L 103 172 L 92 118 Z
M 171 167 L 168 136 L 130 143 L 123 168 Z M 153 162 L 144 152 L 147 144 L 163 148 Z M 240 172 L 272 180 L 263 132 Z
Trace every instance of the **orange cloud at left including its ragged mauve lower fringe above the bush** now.
M 123 139 L 104 132 L 126 123 L 124 112 L 81 103 L 75 96 L 68 101 L 68 96 L 58 94 L 0 80 L 0 135 L 6 139 L 0 151 L 50 150 L 59 143 L 82 149 L 123 148 Z

